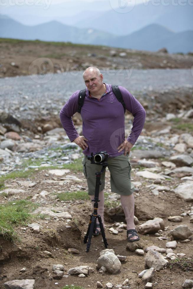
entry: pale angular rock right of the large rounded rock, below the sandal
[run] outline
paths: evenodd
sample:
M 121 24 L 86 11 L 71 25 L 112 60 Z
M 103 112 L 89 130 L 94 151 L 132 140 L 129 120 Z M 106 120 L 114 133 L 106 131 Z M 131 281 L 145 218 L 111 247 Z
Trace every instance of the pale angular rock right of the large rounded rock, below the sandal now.
M 155 268 L 157 271 L 163 269 L 167 262 L 168 261 L 163 258 L 162 254 L 153 250 L 149 250 L 145 256 L 145 264 L 149 268 Z

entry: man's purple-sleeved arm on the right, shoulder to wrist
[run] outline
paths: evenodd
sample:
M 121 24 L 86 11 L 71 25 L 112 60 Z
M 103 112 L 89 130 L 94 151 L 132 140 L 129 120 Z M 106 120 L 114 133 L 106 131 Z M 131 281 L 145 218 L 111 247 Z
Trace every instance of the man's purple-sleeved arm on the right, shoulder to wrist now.
M 134 116 L 131 133 L 127 137 L 127 141 L 134 145 L 145 123 L 145 109 L 126 88 L 122 86 L 119 86 L 119 88 L 125 102 L 126 109 Z

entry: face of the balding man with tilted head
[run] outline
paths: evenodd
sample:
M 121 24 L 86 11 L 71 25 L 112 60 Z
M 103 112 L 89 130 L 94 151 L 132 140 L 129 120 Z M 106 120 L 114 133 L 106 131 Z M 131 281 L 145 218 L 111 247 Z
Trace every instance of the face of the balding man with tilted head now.
M 92 93 L 99 91 L 103 86 L 103 75 L 97 75 L 96 72 L 89 71 L 84 74 L 84 82 L 88 90 Z

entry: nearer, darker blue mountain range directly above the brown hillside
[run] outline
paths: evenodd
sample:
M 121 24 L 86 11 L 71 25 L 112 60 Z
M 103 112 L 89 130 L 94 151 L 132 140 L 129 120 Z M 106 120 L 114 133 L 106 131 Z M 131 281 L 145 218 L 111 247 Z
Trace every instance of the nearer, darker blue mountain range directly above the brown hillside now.
M 193 30 L 174 32 L 155 23 L 128 35 L 117 36 L 102 30 L 77 28 L 57 21 L 27 26 L 0 15 L 0 37 L 107 45 L 150 51 L 166 47 L 170 53 L 187 53 L 193 50 Z

